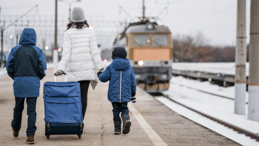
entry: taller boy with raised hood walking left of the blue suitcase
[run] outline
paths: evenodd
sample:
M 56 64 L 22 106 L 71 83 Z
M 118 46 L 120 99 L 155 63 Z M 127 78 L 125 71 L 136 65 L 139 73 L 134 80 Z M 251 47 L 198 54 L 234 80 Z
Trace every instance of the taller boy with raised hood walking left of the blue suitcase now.
M 12 48 L 6 62 L 8 75 L 13 79 L 15 107 L 13 109 L 13 137 L 19 136 L 21 129 L 24 101 L 27 103 L 27 139 L 28 144 L 34 144 L 34 134 L 37 129 L 36 101 L 40 94 L 40 80 L 45 77 L 47 69 L 45 56 L 36 45 L 34 29 L 25 28 L 20 37 L 19 45 Z

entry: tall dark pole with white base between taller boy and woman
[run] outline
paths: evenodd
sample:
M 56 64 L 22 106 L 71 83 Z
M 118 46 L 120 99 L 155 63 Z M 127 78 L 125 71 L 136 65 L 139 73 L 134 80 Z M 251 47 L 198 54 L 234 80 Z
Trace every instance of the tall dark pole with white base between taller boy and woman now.
M 56 1 L 56 8 L 55 8 L 55 42 L 54 42 L 54 49 L 53 49 L 53 73 L 56 73 L 58 68 L 58 44 L 57 44 L 57 19 L 58 19 L 58 0 Z

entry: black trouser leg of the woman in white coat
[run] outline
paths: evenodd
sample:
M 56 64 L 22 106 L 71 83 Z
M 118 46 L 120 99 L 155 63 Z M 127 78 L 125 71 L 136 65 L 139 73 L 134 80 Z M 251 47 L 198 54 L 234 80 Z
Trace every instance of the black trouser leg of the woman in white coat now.
M 87 108 L 87 93 L 88 93 L 90 80 L 81 80 L 81 81 L 78 81 L 78 83 L 80 83 L 82 114 L 84 119 L 84 115 Z

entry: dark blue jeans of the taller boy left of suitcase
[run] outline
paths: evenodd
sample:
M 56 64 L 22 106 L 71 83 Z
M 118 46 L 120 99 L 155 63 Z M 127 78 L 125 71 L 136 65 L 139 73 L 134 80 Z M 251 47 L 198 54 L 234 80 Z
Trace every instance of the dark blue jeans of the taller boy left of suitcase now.
M 22 124 L 22 114 L 24 109 L 25 98 L 15 97 L 15 107 L 13 109 L 13 120 L 12 129 L 15 131 L 20 131 Z M 27 103 L 27 115 L 28 115 L 28 125 L 26 130 L 26 135 L 35 134 L 37 127 L 36 123 L 36 101 L 37 97 L 26 98 Z

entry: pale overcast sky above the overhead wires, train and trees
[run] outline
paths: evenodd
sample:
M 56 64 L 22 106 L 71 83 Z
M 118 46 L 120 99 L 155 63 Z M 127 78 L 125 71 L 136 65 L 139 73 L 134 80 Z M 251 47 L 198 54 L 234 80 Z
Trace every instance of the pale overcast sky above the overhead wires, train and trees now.
M 73 0 L 67 0 L 72 2 Z M 54 15 L 55 0 L 0 0 L 2 15 L 22 15 L 33 5 L 39 5 L 38 11 L 30 15 Z M 102 16 L 104 20 L 130 21 L 119 9 L 120 4 L 131 17 L 142 16 L 142 0 L 82 0 L 72 4 L 81 7 L 87 17 Z M 30 5 L 20 7 L 22 5 Z M 16 7 L 10 9 L 8 7 Z M 211 45 L 236 44 L 237 0 L 145 0 L 146 16 L 158 16 L 168 26 L 173 37 L 176 34 L 194 35 L 202 32 Z M 58 2 L 58 16 L 69 16 L 68 4 Z M 250 0 L 247 0 L 247 43 L 249 43 Z M 161 24 L 160 22 L 160 24 Z M 91 23 L 91 22 L 89 22 Z M 93 26 L 94 27 L 94 26 Z

